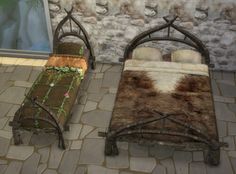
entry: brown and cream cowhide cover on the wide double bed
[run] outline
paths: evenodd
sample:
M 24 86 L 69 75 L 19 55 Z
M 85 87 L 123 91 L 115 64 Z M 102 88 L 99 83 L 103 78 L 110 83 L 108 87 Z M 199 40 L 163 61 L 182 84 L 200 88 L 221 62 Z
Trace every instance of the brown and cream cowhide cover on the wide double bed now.
M 212 138 L 217 138 L 211 87 L 205 65 L 193 67 L 190 64 L 172 62 L 126 62 L 113 110 L 111 129 L 116 130 L 153 117 L 153 109 L 163 113 L 180 113 L 174 118 L 190 123 Z M 160 130 L 163 129 L 162 124 L 159 121 L 144 128 Z M 185 131 L 183 127 L 170 121 L 165 122 L 164 129 Z M 163 141 L 188 141 L 180 137 L 144 137 L 156 137 Z

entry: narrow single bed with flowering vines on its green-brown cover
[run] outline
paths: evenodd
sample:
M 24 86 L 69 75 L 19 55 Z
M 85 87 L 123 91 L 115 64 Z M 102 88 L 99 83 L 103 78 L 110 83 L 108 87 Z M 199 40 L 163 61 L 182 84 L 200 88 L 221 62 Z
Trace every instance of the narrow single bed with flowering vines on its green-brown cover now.
M 72 16 L 72 10 L 66 12 L 67 16 L 55 30 L 53 54 L 10 123 L 16 145 L 22 143 L 20 130 L 23 129 L 57 133 L 58 146 L 65 149 L 62 131 L 68 130 L 71 109 L 87 69 L 90 65 L 95 68 L 87 32 Z M 73 42 L 65 37 L 73 37 Z M 76 38 L 79 42 L 74 42 Z

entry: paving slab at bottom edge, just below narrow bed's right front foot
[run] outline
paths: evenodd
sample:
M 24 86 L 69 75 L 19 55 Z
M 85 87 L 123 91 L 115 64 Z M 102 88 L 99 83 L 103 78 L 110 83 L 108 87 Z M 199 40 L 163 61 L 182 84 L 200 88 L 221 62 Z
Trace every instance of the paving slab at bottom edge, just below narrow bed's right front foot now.
M 61 174 L 73 174 L 79 161 L 79 150 L 70 150 L 65 152 L 58 172 Z

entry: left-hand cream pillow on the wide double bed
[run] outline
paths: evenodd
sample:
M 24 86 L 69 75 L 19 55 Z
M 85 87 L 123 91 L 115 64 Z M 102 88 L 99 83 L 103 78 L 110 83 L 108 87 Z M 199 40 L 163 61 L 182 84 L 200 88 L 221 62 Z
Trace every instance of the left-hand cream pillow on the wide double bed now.
M 132 59 L 162 61 L 162 55 L 160 50 L 157 48 L 139 47 L 134 49 Z

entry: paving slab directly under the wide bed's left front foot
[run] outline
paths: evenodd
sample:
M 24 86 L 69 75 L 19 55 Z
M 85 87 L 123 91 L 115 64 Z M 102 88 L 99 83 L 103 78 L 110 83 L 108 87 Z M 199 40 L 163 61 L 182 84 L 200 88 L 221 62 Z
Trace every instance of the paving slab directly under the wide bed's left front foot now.
M 129 156 L 127 150 L 120 150 L 119 155 L 106 157 L 106 167 L 113 169 L 129 168 Z

